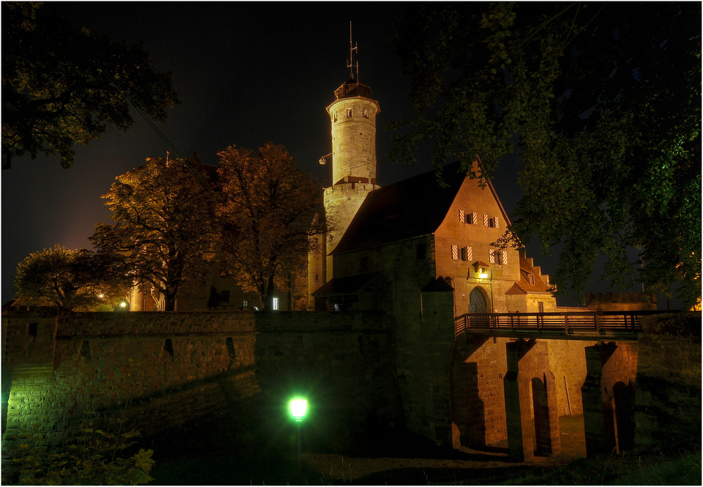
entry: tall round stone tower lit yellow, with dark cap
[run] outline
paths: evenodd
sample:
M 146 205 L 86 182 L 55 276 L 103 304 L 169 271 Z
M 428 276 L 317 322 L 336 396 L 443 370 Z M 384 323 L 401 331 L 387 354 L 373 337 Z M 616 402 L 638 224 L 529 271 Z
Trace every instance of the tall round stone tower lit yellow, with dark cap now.
M 381 109 L 371 89 L 354 79 L 335 90 L 327 112 L 332 122 L 332 181 L 325 188 L 329 255 L 340 242 L 361 203 L 376 186 L 376 115 Z M 333 277 L 332 257 L 327 258 L 326 279 Z

